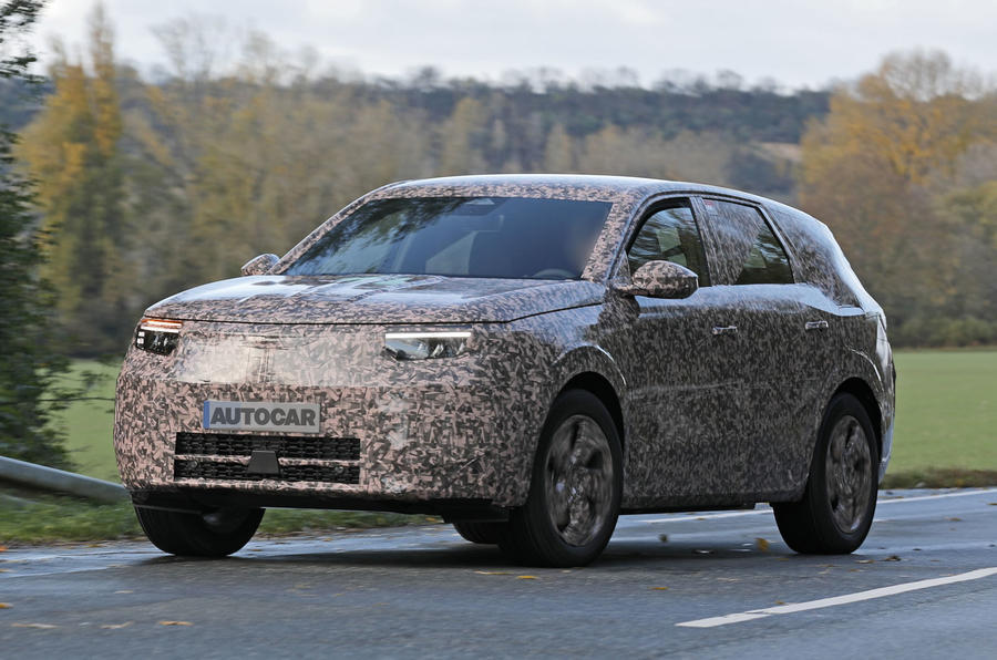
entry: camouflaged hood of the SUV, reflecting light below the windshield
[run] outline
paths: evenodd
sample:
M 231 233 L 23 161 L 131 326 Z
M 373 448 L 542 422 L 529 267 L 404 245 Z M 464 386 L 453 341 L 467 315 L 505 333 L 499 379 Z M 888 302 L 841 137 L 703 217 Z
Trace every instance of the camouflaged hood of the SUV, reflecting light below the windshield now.
M 188 289 L 152 306 L 146 316 L 251 323 L 504 322 L 594 305 L 604 292 L 602 285 L 584 280 L 259 276 Z

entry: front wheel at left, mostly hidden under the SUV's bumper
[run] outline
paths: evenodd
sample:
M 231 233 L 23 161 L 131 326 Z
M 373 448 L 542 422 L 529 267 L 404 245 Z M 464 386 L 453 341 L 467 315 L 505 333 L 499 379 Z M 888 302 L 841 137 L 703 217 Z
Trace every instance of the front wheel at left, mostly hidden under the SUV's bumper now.
M 138 524 L 154 546 L 186 557 L 225 557 L 243 548 L 256 534 L 264 509 L 223 508 L 188 514 L 135 507 Z

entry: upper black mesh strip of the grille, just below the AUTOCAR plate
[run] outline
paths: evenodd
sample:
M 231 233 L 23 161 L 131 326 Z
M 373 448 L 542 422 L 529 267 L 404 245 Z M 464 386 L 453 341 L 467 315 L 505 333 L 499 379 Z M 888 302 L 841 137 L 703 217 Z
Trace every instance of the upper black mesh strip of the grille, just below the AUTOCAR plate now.
M 177 454 L 245 456 L 257 450 L 275 452 L 278 458 L 359 461 L 356 437 L 294 437 L 287 435 L 240 435 L 236 433 L 177 433 Z

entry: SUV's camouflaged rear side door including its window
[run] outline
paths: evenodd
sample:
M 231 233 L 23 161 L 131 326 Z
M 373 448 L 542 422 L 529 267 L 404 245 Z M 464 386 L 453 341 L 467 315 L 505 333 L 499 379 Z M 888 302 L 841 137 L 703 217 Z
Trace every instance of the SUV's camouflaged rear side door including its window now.
M 738 436 L 748 455 L 744 487 L 757 494 L 789 491 L 798 481 L 800 440 L 809 432 L 822 369 L 814 341 L 829 321 L 810 305 L 812 287 L 795 282 L 778 231 L 747 200 L 707 197 L 703 209 L 716 286 L 736 300 L 731 324 L 741 351 L 730 370 L 742 383 Z

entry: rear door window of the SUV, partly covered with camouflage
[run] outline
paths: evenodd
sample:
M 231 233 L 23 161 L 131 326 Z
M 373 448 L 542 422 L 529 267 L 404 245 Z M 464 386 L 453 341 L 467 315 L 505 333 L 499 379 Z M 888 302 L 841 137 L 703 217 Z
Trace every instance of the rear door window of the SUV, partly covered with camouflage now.
M 791 285 L 785 249 L 753 206 L 703 199 L 717 234 L 718 280 L 730 285 Z

